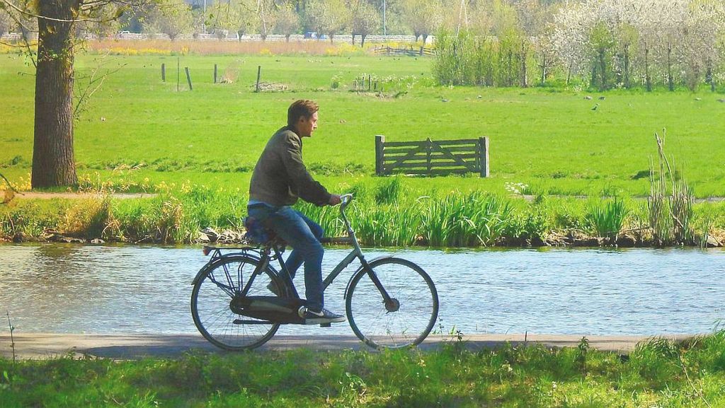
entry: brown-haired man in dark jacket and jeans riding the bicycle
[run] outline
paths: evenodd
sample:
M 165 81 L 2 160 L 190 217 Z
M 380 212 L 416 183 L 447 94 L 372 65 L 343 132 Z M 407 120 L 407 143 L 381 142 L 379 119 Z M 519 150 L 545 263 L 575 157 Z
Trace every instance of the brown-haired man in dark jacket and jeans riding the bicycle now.
M 270 138 L 254 166 L 247 212 L 292 247 L 285 262 L 290 278 L 304 262 L 307 307 L 301 316 L 309 323 L 343 322 L 344 316 L 324 308 L 323 228 L 291 208 L 298 197 L 320 207 L 340 204 L 340 196 L 328 193 L 302 162 L 302 138 L 311 137 L 317 129 L 318 109 L 318 104 L 306 99 L 294 101 L 287 109 L 287 125 Z

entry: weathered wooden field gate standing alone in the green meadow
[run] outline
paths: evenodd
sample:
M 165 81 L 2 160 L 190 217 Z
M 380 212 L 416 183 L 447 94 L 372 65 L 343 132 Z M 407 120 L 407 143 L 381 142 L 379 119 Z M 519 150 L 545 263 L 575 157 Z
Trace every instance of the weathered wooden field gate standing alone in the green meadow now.
M 375 172 L 428 176 L 475 172 L 488 177 L 489 138 L 386 142 L 385 136 L 376 136 Z

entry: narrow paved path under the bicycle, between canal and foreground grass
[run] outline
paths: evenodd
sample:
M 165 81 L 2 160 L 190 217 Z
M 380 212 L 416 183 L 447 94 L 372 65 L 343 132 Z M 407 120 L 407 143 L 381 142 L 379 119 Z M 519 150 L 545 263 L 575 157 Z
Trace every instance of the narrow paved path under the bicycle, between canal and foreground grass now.
M 509 341 L 512 344 L 544 344 L 549 347 L 576 347 L 582 336 L 543 334 L 486 334 L 464 336 L 469 349 L 493 348 Z M 666 336 L 686 338 L 687 336 Z M 603 351 L 626 354 L 643 336 L 587 336 L 589 346 Z M 57 357 L 69 353 L 90 354 L 112 359 L 136 359 L 141 357 L 178 357 L 186 351 L 203 350 L 223 353 L 208 343 L 201 335 L 83 335 L 56 333 L 15 334 L 15 354 L 20 359 Z M 446 342 L 455 342 L 450 336 L 428 336 L 421 349 L 436 349 Z M 12 359 L 9 334 L 0 335 L 0 355 Z M 367 349 L 355 336 L 275 336 L 260 351 L 285 350 L 307 347 L 320 350 Z

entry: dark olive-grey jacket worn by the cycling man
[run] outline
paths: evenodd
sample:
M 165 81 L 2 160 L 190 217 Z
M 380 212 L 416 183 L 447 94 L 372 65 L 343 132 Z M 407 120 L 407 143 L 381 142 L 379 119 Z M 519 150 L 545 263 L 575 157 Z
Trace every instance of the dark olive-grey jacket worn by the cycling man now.
M 249 199 L 281 207 L 296 203 L 299 197 L 323 206 L 330 196 L 302 162 L 302 139 L 287 126 L 277 130 L 254 166 Z

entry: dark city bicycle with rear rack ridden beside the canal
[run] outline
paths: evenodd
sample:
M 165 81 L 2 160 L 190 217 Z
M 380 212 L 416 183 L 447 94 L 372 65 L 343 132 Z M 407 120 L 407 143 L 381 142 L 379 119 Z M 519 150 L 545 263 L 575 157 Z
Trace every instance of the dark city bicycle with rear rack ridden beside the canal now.
M 337 241 L 347 241 L 353 248 L 327 275 L 323 290 L 359 260 L 360 267 L 352 273 L 343 295 L 355 336 L 374 349 L 418 345 L 438 316 L 433 280 L 406 259 L 386 256 L 368 262 L 345 215 L 350 202 L 352 194 L 341 196 L 340 215 L 347 237 Z M 223 250 L 234 252 L 223 254 Z M 297 293 L 282 252 L 283 243 L 276 238 L 257 246 L 204 246 L 204 254 L 211 253 L 212 258 L 196 274 L 191 292 L 191 315 L 204 338 L 221 349 L 254 349 L 269 341 L 280 325 L 306 324 L 300 317 L 305 301 Z M 274 260 L 279 270 L 272 266 Z

